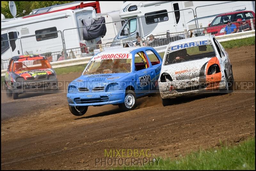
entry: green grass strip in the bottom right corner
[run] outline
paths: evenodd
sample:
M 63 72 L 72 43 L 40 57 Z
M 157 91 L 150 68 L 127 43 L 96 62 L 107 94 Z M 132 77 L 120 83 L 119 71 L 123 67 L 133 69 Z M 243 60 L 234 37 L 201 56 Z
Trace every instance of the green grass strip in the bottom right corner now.
M 159 159 L 159 158 L 158 158 Z M 118 167 L 130 170 L 255 170 L 255 139 L 236 146 L 192 152 L 178 159 L 161 159 L 158 166 Z

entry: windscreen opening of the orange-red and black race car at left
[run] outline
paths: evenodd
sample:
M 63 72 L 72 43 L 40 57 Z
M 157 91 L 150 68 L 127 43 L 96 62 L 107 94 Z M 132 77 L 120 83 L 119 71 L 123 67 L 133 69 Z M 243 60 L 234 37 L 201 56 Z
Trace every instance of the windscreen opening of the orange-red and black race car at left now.
M 24 61 L 14 61 L 13 63 L 13 71 L 27 71 L 27 70 L 34 70 L 34 69 L 45 69 L 45 68 L 52 68 L 51 64 L 47 59 L 42 60 L 24 60 Z

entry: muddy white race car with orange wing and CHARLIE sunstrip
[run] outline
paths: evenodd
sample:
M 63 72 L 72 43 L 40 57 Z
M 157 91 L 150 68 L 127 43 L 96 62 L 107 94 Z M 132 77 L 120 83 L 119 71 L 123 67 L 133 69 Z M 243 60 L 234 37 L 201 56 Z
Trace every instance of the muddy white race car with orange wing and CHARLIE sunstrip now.
M 158 79 L 164 106 L 172 97 L 220 89 L 228 92 L 233 82 L 228 53 L 213 35 L 168 44 Z

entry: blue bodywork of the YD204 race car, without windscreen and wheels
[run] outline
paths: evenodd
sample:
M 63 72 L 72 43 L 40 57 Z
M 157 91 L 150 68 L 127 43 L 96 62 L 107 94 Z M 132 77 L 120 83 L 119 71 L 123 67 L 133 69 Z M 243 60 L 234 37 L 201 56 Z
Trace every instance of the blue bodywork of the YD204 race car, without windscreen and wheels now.
M 155 53 L 160 61 L 159 64 L 152 66 L 146 53 L 147 50 Z M 135 54 L 140 51 L 144 51 L 150 66 L 136 71 L 134 59 Z M 70 106 L 118 105 L 124 103 L 125 91 L 127 89 L 133 90 L 136 98 L 148 96 L 159 91 L 157 80 L 162 65 L 160 55 L 152 47 L 141 47 L 125 53 L 132 54 L 130 73 L 81 75 L 70 82 L 68 86 L 68 104 Z M 98 90 L 93 90 L 95 88 Z

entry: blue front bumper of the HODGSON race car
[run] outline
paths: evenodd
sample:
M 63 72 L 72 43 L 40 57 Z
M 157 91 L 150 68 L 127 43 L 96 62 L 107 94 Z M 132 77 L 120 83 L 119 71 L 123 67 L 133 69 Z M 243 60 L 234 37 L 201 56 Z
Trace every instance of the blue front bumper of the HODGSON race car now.
M 94 93 L 68 93 L 68 104 L 70 106 L 100 106 L 117 105 L 124 103 L 125 91 L 94 92 Z

